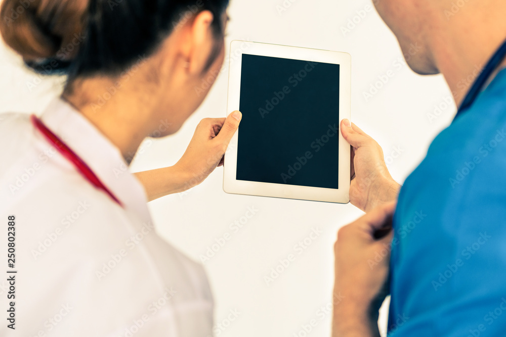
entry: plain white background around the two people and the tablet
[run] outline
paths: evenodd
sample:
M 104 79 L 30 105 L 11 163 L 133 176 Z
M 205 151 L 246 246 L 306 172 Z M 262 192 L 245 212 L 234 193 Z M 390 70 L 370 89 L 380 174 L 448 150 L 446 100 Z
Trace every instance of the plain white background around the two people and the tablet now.
M 286 10 L 280 11 L 283 3 Z M 402 55 L 395 37 L 374 10 L 364 11 L 367 8 L 372 4 L 363 0 L 232 0 L 227 44 L 244 39 L 350 53 L 352 120 L 383 147 L 392 176 L 402 183 L 456 109 L 443 104 L 450 93 L 441 76 L 422 77 L 406 65 L 396 66 Z M 348 24 L 350 30 L 344 32 Z M 228 113 L 227 66 L 181 131 L 145 146 L 132 171 L 173 165 L 200 119 Z M 364 91 L 389 70 L 393 77 L 366 100 Z M 34 75 L 3 44 L 0 74 L 0 112 L 40 112 L 61 91 L 61 78 Z M 28 82 L 37 85 L 30 90 Z M 428 115 L 440 104 L 442 113 L 431 120 Z M 394 159 L 396 149 L 400 155 Z M 331 299 L 333 243 L 337 230 L 362 212 L 350 204 L 227 195 L 222 172 L 220 168 L 200 186 L 149 205 L 159 234 L 195 260 L 230 233 L 230 240 L 205 263 L 216 299 L 215 321 L 227 325 L 217 335 L 305 336 L 303 325 L 315 319 L 317 325 L 307 335 L 329 336 L 331 314 L 317 311 Z M 233 232 L 229 225 L 248 207 L 258 212 Z M 322 234 L 299 255 L 294 245 L 313 228 Z M 288 254 L 295 260 L 267 285 L 264 276 Z M 240 314 L 228 324 L 230 310 Z M 382 325 L 385 319 L 382 311 Z

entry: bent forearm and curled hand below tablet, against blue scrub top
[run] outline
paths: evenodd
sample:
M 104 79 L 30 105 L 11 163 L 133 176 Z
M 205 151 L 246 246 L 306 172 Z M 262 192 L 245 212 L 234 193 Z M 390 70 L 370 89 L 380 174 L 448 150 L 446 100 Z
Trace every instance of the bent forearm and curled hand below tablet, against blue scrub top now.
M 342 227 L 334 246 L 333 337 L 379 336 L 378 311 L 388 295 L 395 202 Z

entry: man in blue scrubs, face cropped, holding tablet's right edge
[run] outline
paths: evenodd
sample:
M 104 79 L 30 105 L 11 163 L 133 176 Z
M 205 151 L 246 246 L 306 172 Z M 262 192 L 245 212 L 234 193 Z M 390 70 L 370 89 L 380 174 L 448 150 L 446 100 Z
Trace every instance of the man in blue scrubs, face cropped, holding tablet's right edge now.
M 338 234 L 333 336 L 378 336 L 388 285 L 391 337 L 506 336 L 506 2 L 374 4 L 404 53 L 420 46 L 411 69 L 442 73 L 460 108 L 398 195 L 381 148 L 342 122 L 367 214 Z

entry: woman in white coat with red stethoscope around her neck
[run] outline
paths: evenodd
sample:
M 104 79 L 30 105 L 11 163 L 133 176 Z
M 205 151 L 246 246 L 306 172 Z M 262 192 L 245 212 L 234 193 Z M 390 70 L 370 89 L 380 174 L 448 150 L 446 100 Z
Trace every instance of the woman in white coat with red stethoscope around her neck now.
M 7 114 L 0 125 L 0 216 L 22 289 L 2 300 L 0 335 L 212 334 L 203 268 L 157 236 L 146 203 L 220 165 L 241 114 L 200 122 L 174 167 L 138 179 L 126 168 L 145 137 L 176 132 L 203 101 L 194 88 L 222 66 L 227 5 L 2 3 L 5 41 L 68 80 L 40 118 Z

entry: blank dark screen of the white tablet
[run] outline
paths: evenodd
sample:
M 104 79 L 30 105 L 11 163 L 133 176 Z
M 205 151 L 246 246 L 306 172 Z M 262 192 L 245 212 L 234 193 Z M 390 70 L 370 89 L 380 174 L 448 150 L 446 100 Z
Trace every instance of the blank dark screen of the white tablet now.
M 242 55 L 237 180 L 338 188 L 338 64 Z

